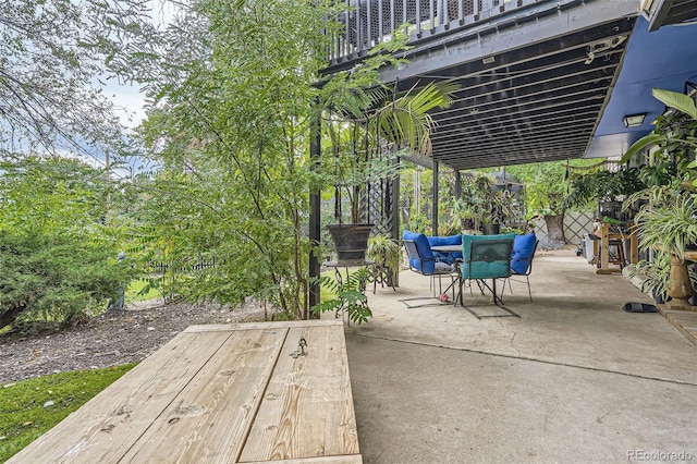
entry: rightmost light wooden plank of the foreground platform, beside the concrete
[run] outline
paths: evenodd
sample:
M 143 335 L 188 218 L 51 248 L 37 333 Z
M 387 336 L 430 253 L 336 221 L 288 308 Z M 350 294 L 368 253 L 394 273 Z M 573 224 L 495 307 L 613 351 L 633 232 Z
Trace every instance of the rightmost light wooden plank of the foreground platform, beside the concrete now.
M 358 453 L 343 332 L 293 328 L 283 351 L 301 338 L 307 356 L 279 358 L 240 462 Z

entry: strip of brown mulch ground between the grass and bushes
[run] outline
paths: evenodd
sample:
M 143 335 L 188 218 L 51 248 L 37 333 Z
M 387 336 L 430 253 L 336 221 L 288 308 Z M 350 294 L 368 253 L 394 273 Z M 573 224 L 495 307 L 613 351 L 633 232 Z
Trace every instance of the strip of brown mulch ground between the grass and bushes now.
M 188 326 L 264 320 L 264 308 L 144 302 L 111 310 L 75 327 L 0 335 L 0 386 L 69 370 L 138 362 Z

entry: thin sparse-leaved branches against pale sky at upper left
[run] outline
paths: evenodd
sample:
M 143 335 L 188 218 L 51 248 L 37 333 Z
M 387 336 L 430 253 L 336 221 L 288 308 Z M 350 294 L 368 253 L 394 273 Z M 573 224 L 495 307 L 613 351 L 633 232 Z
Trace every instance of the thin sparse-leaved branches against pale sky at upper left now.
M 139 0 L 0 2 L 0 154 L 126 149 L 109 68 L 154 27 Z

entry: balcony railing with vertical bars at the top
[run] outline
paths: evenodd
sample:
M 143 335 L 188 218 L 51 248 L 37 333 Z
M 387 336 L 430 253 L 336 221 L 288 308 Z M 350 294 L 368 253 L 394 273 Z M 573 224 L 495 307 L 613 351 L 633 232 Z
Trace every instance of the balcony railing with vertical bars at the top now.
M 332 42 L 331 63 L 360 58 L 404 23 L 411 41 L 510 15 L 545 0 L 345 0 L 344 30 Z

